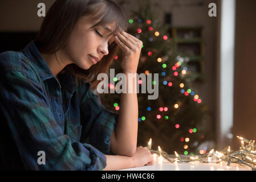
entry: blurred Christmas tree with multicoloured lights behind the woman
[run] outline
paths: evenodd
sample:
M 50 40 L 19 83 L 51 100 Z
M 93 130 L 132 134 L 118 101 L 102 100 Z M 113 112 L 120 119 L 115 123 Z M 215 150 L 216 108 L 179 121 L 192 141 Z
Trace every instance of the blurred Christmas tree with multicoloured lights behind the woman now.
M 152 11 L 151 1 L 141 4 L 129 19 L 128 33 L 143 42 L 137 73 L 159 73 L 159 97 L 149 100 L 148 93 L 137 93 L 139 104 L 138 146 L 147 146 L 152 138 L 152 148 L 180 154 L 205 154 L 200 143 L 212 138 L 205 130 L 207 107 L 203 104 L 190 73 L 186 57 L 176 53 L 168 33 L 169 26 L 160 24 L 157 11 Z M 121 73 L 121 50 L 111 68 Z M 152 76 L 153 78 L 153 76 Z M 115 79 L 115 78 L 114 78 Z M 115 79 L 115 83 L 117 83 Z M 143 84 L 138 80 L 138 87 Z M 155 85 L 156 81 L 152 81 Z M 109 89 L 115 89 L 109 84 Z M 101 94 L 101 102 L 109 110 L 118 113 L 120 94 Z

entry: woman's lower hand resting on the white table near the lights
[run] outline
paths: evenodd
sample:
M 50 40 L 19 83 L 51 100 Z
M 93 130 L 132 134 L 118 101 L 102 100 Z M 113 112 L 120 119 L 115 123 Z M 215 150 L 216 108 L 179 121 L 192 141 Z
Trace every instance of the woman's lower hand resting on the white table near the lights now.
M 133 159 L 135 167 L 154 164 L 153 156 L 147 147 L 137 147 L 135 155 L 131 158 Z

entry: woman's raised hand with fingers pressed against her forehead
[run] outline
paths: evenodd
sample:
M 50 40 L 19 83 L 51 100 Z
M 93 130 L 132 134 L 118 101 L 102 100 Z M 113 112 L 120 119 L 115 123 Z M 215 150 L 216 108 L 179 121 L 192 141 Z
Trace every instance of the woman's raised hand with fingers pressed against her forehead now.
M 143 42 L 131 34 L 121 30 L 114 33 L 115 42 L 121 48 L 123 72 L 136 73 Z

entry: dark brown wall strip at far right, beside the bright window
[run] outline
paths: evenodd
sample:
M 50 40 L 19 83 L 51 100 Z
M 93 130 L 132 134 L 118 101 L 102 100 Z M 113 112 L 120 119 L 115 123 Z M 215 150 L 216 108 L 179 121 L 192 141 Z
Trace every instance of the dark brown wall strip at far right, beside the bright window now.
M 234 127 L 235 135 L 256 139 L 256 1 L 236 1 Z

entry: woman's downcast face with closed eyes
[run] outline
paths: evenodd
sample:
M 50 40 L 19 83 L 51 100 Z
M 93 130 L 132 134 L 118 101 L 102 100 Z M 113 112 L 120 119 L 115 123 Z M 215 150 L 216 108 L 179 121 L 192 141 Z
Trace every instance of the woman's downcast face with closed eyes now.
M 108 55 L 108 46 L 115 42 L 113 23 L 104 26 L 109 30 L 105 30 L 103 26 L 89 29 L 92 25 L 92 22 L 80 19 L 63 48 L 68 59 L 82 69 L 89 69 L 97 63 L 91 56 L 97 57 L 96 61 L 99 61 L 104 55 Z

